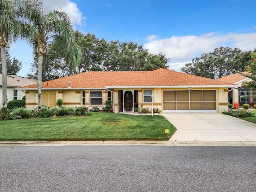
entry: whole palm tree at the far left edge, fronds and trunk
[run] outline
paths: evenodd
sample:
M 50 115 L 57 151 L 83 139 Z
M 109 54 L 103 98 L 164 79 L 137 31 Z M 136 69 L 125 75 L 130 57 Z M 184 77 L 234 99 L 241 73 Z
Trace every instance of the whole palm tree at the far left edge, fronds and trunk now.
M 2 59 L 3 107 L 7 107 L 7 64 L 6 48 L 20 37 L 20 22 L 16 14 L 16 3 L 12 0 L 0 0 L 0 46 Z

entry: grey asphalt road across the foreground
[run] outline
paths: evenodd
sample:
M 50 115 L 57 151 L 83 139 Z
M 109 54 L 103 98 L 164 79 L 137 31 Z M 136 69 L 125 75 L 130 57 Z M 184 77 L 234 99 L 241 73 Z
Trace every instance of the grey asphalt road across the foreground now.
M 0 147 L 0 192 L 255 190 L 255 147 Z

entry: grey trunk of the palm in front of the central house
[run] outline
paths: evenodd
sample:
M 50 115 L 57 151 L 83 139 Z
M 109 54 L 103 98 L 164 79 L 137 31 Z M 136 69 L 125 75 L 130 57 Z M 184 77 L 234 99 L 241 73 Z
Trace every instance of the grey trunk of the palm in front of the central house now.
M 43 55 L 38 54 L 38 67 L 37 67 L 37 111 L 38 113 L 41 112 L 42 66 L 43 66 Z

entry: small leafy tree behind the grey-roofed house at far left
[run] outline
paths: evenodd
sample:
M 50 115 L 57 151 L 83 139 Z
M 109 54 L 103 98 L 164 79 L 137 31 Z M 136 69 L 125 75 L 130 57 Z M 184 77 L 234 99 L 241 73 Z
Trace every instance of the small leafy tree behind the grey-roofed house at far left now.
M 0 55 L 0 58 L 1 58 L 1 55 Z M 15 57 L 13 59 L 11 59 L 8 52 L 6 52 L 6 66 L 7 66 L 7 75 L 17 75 L 17 73 L 22 68 L 21 62 L 19 60 L 17 60 Z M 0 61 L 0 73 L 2 73 L 2 62 L 1 61 Z

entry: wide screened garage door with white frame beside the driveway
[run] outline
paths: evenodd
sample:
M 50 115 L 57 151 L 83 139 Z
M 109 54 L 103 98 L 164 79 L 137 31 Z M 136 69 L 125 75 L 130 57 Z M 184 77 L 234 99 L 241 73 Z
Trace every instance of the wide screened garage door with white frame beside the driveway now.
M 166 90 L 163 112 L 216 113 L 216 90 Z

